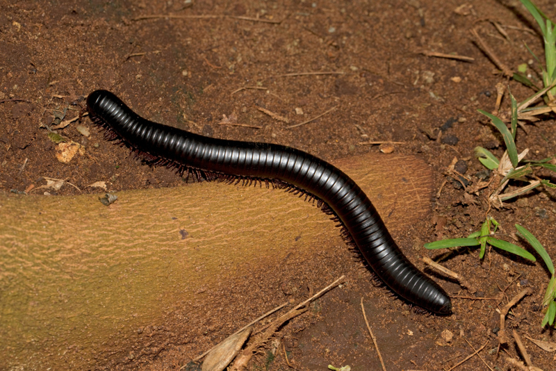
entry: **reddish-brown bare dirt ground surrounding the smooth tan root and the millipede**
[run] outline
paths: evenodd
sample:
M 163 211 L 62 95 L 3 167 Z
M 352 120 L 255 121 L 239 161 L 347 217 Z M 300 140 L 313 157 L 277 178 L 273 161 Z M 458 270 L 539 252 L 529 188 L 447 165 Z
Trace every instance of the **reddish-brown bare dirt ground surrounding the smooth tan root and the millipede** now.
M 556 19 L 554 1 L 539 0 L 537 6 Z M 215 17 L 141 18 L 168 14 Z M 500 157 L 504 148 L 477 109 L 493 110 L 496 84 L 507 79 L 472 42 L 472 28 L 514 70 L 532 60 L 525 44 L 537 56 L 543 53 L 537 25 L 512 0 L 1 1 L 0 187 L 42 193 L 30 187 L 43 185 L 44 176 L 66 179 L 82 192 L 99 192 L 88 188 L 95 181 L 108 181 L 113 190 L 181 186 L 182 179 L 172 170 L 144 165 L 127 149 L 104 140 L 88 118 L 55 130 L 85 149 L 70 163 L 57 160 L 49 133 L 76 117 L 87 94 L 99 88 L 112 90 L 157 122 L 217 138 L 275 142 L 325 160 L 369 151 L 388 156 L 379 146 L 360 143 L 400 142 L 393 145 L 395 153 L 423 158 L 434 170 L 436 190 L 454 158 L 464 160 L 465 176 L 476 183 L 484 167 L 473 149 L 480 145 Z M 433 58 L 423 51 L 474 60 Z M 300 72 L 322 74 L 286 76 Z M 536 63 L 530 63 L 529 72 L 538 76 Z M 532 94 L 514 81 L 509 86 L 518 100 Z M 508 106 L 505 99 L 502 107 Z M 280 122 L 258 108 L 291 122 Z M 332 108 L 313 122 L 286 128 Z M 89 136 L 82 134 L 83 128 Z M 553 119 L 525 129 L 527 133 L 518 130 L 518 149 L 529 148 L 529 158 L 536 159 L 555 154 Z M 65 185 L 49 193 L 79 191 Z M 480 228 L 488 212 L 502 224 L 506 238 L 511 239 L 519 222 L 556 257 L 554 229 L 546 228 L 556 217 L 553 194 L 534 190 L 502 210 L 489 210 L 485 196 L 479 192 L 466 198 L 457 183 L 448 181 L 432 198 L 430 217 L 394 237 L 411 261 L 418 262 L 423 254 L 442 254 L 426 252 L 424 242 L 467 236 Z M 379 370 L 361 316 L 361 297 L 387 370 L 448 370 L 473 353 L 471 346 L 483 345 L 482 359 L 474 356 L 456 370 L 487 370 L 485 363 L 491 370 L 516 370 L 506 363 L 508 356 L 520 358 L 513 340 L 497 352 L 496 308 L 526 287 L 532 295 L 514 307 L 507 329 L 520 333 L 534 365 L 555 369 L 554 353 L 524 338 L 556 341 L 552 329 L 540 327 L 540 304 L 549 279 L 540 261 L 525 263 L 496 251 L 480 261 L 476 249 L 450 256 L 445 266 L 478 289 L 470 292 L 433 275 L 454 297 L 454 314 L 437 317 L 418 313 L 377 287 L 349 249 L 339 247 L 335 254 L 300 263 L 304 274 L 286 283 L 254 274 L 242 287 L 222 289 L 231 301 L 250 292 L 240 306 L 239 318 L 247 322 L 287 297 L 269 301 L 277 287 L 272 285 L 281 284 L 281 290 L 297 300 L 306 297 L 309 287 L 330 283 L 338 274 L 329 269 L 340 269 L 338 265 L 350 277 L 347 285 L 281 329 L 279 352 L 272 356 L 265 349 L 252 370 L 289 370 L 281 348 L 297 370 L 327 370 L 329 364 Z M 498 298 L 501 291 L 501 300 L 482 299 Z M 195 329 L 182 325 L 161 331 L 158 348 L 152 345 L 156 352 L 136 349 L 141 357 L 109 362 L 99 358 L 89 368 L 179 370 L 235 331 L 237 304 L 222 306 L 215 303 L 220 317 L 193 321 Z M 131 349 L 129 344 L 119 346 L 122 353 Z

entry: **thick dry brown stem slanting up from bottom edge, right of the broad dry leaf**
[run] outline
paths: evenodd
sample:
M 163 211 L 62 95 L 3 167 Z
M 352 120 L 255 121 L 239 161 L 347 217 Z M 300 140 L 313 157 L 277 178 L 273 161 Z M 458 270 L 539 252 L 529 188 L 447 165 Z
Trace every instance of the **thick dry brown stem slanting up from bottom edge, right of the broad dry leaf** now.
M 281 315 L 279 318 L 274 320 L 270 324 L 268 329 L 265 329 L 265 331 L 263 333 L 259 333 L 259 335 L 257 335 L 254 338 L 254 340 L 252 340 L 252 343 L 246 349 L 244 349 L 243 352 L 241 352 L 236 357 L 236 360 L 234 361 L 234 364 L 231 366 L 230 370 L 231 371 L 246 370 L 247 369 L 247 363 L 249 363 L 252 356 L 255 354 L 256 349 L 258 349 L 259 347 L 261 347 L 261 345 L 266 343 L 270 339 L 270 337 L 272 335 L 274 335 L 275 332 L 285 322 L 287 322 L 288 320 L 291 320 L 292 318 L 295 318 L 297 315 L 300 315 L 301 313 L 304 313 L 305 311 L 309 310 L 309 307 L 303 308 L 304 306 L 306 306 L 306 304 L 309 304 L 314 299 L 320 297 L 322 294 L 324 294 L 328 290 L 331 290 L 332 288 L 336 287 L 339 283 L 341 283 L 341 281 L 343 281 L 344 278 L 345 278 L 345 276 L 342 276 L 342 277 L 336 279 L 336 281 L 332 282 L 329 286 L 323 288 L 322 290 L 317 292 L 312 297 L 309 297 L 309 299 L 306 299 L 304 302 L 302 302 L 300 304 L 297 304 L 293 309 L 291 309 L 291 311 L 289 311 L 288 313 L 286 313 L 284 315 Z

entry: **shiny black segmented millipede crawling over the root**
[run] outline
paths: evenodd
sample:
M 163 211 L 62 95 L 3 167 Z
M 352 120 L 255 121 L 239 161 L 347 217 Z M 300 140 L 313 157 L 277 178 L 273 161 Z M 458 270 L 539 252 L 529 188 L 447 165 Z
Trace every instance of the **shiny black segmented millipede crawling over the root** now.
M 427 311 L 451 313 L 448 294 L 404 256 L 361 188 L 325 160 L 283 145 L 209 138 L 151 122 L 106 90 L 89 94 L 87 110 L 127 147 L 181 170 L 277 181 L 325 202 L 386 286 Z

